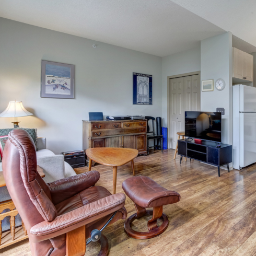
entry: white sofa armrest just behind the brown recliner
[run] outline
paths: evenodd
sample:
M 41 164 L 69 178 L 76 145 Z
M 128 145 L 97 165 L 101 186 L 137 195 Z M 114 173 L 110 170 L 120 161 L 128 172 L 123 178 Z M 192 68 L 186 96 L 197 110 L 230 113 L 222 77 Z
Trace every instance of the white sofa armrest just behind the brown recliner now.
M 43 169 L 45 183 L 65 178 L 63 155 L 37 157 L 37 164 Z

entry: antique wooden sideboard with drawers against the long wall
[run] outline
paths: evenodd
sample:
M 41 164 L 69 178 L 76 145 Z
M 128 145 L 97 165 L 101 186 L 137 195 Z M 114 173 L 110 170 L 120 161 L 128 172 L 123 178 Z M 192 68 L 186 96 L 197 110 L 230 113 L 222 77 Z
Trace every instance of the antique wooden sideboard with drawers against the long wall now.
M 147 155 L 147 120 L 83 120 L 83 149 L 94 147 L 134 148 Z M 89 159 L 86 160 L 87 166 Z M 94 163 L 93 163 L 94 164 Z

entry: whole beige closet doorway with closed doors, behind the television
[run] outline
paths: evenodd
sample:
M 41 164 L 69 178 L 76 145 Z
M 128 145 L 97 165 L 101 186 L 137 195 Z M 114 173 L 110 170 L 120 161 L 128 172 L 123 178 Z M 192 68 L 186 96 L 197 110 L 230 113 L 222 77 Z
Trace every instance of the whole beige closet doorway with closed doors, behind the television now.
M 168 77 L 169 148 L 176 148 L 177 132 L 185 131 L 185 111 L 200 111 L 200 84 L 200 72 Z

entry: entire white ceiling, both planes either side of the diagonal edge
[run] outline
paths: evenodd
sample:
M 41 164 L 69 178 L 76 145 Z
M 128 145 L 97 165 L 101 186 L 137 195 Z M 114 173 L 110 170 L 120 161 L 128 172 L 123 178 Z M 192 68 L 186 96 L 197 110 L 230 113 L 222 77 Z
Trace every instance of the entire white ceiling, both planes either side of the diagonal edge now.
M 0 17 L 161 57 L 225 31 L 256 51 L 255 0 L 0 0 Z

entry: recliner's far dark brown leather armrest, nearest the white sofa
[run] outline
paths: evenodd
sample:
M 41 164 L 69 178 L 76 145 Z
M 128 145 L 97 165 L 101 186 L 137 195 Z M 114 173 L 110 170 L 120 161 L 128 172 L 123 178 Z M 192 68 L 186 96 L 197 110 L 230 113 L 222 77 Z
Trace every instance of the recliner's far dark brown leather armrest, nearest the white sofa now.
M 99 178 L 100 173 L 98 171 L 89 171 L 47 183 L 53 204 L 59 204 L 69 197 L 94 186 Z

